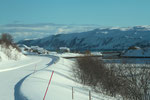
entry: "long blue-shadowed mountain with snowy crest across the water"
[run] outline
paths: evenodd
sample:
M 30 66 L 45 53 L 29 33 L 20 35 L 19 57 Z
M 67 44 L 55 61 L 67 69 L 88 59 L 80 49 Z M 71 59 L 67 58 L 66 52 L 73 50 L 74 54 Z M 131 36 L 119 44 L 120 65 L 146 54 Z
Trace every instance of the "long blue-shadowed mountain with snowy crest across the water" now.
M 87 32 L 51 35 L 23 40 L 19 44 L 37 45 L 48 50 L 69 47 L 71 50 L 123 50 L 130 46 L 150 46 L 150 26 L 99 28 Z

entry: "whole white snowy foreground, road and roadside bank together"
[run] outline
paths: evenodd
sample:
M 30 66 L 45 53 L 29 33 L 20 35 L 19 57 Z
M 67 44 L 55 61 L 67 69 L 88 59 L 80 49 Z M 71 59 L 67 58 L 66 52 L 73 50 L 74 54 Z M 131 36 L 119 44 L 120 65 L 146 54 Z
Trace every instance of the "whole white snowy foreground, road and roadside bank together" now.
M 74 62 L 56 56 L 28 56 L 18 61 L 0 62 L 0 100 L 88 100 L 90 88 L 74 81 Z M 35 71 L 36 70 L 36 71 Z M 91 91 L 92 100 L 115 100 Z

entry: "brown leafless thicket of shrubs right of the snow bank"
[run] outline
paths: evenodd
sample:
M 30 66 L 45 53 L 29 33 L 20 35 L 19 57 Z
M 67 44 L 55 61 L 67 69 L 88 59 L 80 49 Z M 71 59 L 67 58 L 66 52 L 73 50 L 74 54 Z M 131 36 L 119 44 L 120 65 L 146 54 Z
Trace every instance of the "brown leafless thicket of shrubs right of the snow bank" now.
M 110 96 L 121 95 L 125 100 L 149 100 L 150 66 L 105 64 L 98 58 L 77 59 L 73 68 L 77 81 Z M 146 98 L 146 99 L 145 99 Z

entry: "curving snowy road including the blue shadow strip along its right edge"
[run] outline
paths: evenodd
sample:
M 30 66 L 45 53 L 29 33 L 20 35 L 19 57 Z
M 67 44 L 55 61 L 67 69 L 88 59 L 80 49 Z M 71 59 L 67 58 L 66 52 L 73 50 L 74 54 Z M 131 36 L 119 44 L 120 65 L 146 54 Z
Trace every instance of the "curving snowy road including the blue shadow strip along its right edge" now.
M 53 56 L 29 56 L 21 63 L 10 63 L 9 68 L 0 69 L 0 100 L 20 100 L 20 86 L 35 70 L 40 71 L 49 67 L 57 60 Z M 7 63 L 9 66 L 9 62 Z M 0 66 L 1 68 L 1 66 Z

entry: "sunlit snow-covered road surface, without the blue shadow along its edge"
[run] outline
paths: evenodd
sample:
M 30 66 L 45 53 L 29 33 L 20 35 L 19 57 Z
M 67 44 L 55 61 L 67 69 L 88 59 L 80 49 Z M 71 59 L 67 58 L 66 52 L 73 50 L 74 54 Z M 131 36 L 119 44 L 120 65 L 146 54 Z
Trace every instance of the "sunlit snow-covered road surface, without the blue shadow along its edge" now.
M 35 70 L 43 69 L 52 63 L 52 58 L 29 56 L 23 61 L 0 63 L 0 100 L 15 99 L 15 85 Z

